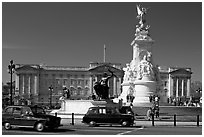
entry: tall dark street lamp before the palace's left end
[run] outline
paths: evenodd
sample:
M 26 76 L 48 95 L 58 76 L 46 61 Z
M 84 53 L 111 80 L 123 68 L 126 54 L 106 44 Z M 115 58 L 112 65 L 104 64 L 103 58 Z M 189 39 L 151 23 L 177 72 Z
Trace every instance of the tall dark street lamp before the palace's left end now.
M 13 60 L 10 61 L 10 64 L 8 65 L 8 73 L 11 74 L 11 86 L 10 86 L 10 105 L 13 105 L 13 80 L 12 80 L 12 75 L 15 70 L 15 65 L 13 64 Z

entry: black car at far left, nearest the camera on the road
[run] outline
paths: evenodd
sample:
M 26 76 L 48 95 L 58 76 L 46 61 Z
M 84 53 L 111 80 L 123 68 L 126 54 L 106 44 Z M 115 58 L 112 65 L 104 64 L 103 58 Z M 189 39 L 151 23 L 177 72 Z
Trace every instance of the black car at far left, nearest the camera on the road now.
M 31 127 L 43 131 L 58 128 L 60 122 L 60 117 L 47 115 L 37 106 L 8 106 L 2 112 L 2 125 L 7 130 L 12 127 Z

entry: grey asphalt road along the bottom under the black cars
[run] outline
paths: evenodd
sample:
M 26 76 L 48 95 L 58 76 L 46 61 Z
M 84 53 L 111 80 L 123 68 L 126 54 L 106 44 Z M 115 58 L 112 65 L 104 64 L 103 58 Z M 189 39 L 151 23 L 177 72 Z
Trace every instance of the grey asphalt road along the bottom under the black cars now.
M 155 127 L 121 127 L 121 126 L 63 126 L 54 131 L 37 132 L 33 129 L 15 128 L 4 130 L 2 135 L 202 135 L 202 127 L 155 126 Z

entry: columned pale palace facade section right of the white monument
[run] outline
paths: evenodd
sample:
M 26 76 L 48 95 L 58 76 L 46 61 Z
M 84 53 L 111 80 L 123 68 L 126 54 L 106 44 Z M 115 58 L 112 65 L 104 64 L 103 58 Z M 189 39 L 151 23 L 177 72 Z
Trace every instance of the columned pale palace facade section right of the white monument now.
M 169 99 L 189 98 L 191 92 L 191 68 L 159 67 L 162 81 L 161 96 L 163 101 Z

